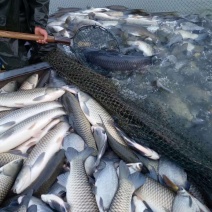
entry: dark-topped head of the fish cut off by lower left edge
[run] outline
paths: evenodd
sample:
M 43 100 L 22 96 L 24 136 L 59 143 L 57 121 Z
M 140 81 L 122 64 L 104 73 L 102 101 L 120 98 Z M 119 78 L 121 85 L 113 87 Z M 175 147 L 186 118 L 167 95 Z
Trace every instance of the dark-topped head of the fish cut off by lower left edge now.
M 11 161 L 0 169 L 0 173 L 6 176 L 15 177 L 20 171 L 23 164 L 23 159 Z

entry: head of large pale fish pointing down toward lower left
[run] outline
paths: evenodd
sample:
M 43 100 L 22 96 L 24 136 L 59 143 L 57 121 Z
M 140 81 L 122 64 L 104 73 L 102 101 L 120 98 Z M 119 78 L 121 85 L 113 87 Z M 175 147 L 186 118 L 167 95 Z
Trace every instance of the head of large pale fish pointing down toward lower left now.
M 25 185 L 26 184 L 30 185 L 30 183 L 31 183 L 31 170 L 29 166 L 25 166 L 21 170 L 21 173 L 16 178 L 16 181 L 14 183 L 12 190 L 14 193 L 20 194 L 26 188 Z

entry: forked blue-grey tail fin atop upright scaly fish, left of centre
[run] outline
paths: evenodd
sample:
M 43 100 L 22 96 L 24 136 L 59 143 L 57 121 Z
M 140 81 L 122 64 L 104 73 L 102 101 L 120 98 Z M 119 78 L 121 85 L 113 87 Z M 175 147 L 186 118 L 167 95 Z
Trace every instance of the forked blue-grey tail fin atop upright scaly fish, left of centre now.
M 87 147 L 81 152 L 78 152 L 72 147 L 68 147 L 65 155 L 70 162 L 75 158 L 82 159 L 83 161 L 85 161 L 93 153 L 93 151 L 94 149 L 91 147 Z

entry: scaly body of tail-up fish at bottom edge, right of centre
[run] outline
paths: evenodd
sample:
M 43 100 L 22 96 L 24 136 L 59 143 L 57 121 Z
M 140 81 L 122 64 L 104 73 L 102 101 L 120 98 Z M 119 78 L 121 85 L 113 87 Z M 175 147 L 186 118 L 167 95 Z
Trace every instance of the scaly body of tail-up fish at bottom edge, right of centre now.
M 110 206 L 110 212 L 130 211 L 132 193 L 134 186 L 127 180 L 120 180 L 119 189 Z

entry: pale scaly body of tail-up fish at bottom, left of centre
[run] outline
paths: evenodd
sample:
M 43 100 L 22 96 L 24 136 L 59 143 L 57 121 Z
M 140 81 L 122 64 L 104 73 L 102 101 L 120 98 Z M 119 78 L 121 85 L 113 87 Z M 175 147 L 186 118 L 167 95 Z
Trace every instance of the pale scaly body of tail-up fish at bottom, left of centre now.
M 99 211 L 82 160 L 73 160 L 71 162 L 71 172 L 66 190 L 67 200 L 72 211 Z

